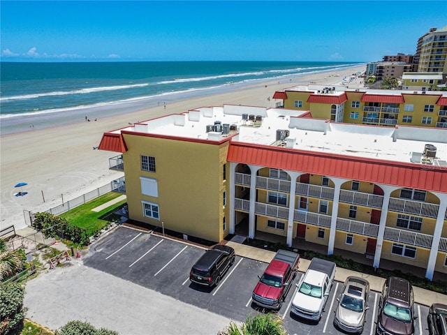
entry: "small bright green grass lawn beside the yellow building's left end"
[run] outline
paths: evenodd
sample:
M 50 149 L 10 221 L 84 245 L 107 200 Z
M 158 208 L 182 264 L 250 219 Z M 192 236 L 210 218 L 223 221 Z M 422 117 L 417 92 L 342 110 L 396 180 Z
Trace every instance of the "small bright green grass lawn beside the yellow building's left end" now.
M 61 218 L 66 218 L 66 220 L 72 225 L 76 225 L 80 228 L 86 228 L 89 234 L 93 234 L 97 230 L 104 228 L 108 222 L 118 220 L 119 216 L 114 213 L 123 207 L 127 200 L 122 200 L 116 204 L 112 204 L 110 207 L 98 212 L 92 211 L 91 209 L 101 206 L 101 204 L 105 204 L 105 202 L 118 198 L 120 195 L 122 194 L 115 192 L 106 193 L 105 195 L 101 195 L 99 198 L 86 202 L 81 206 L 75 207 L 64 214 L 61 214 L 60 216 Z

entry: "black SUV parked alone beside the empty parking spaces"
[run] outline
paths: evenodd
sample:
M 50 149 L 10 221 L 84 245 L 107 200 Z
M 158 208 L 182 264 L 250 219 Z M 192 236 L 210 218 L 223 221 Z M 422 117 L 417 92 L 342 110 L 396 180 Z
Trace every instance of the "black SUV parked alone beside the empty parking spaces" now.
M 218 244 L 207 250 L 193 265 L 189 280 L 200 285 L 218 285 L 223 274 L 234 262 L 234 249 Z

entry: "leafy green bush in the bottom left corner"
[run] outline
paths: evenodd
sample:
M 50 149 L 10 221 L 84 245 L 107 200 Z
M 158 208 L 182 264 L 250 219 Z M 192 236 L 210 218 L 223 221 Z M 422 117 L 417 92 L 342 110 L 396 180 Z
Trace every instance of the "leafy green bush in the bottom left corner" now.
M 0 334 L 19 335 L 23 329 L 24 287 L 20 284 L 0 285 Z

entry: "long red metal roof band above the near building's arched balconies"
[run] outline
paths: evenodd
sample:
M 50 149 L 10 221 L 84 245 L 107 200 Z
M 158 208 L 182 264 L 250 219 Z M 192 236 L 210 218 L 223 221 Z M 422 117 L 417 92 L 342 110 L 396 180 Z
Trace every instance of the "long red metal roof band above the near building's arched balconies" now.
M 227 161 L 447 193 L 447 168 L 230 142 Z

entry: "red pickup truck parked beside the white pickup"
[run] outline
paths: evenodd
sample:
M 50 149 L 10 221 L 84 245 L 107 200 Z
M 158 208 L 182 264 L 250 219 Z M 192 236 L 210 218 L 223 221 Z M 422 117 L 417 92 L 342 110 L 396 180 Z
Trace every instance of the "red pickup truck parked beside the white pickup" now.
M 291 281 L 298 271 L 300 255 L 292 251 L 279 250 L 272 262 L 259 277 L 259 282 L 251 296 L 254 304 L 270 309 L 281 308 L 286 299 Z

